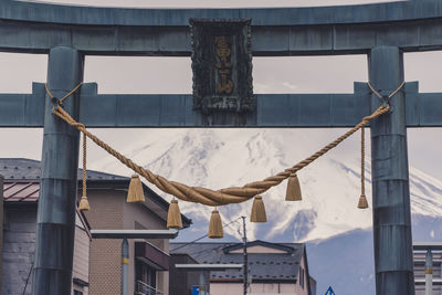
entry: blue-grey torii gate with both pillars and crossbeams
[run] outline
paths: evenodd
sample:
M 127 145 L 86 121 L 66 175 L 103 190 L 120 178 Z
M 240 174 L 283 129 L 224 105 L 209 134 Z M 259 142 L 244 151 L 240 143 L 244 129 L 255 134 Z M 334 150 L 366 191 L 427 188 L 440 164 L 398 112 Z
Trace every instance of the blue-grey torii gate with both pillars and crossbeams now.
M 403 52 L 442 49 L 442 1 L 284 9 L 117 9 L 0 0 L 0 51 L 49 53 L 50 91 L 83 80 L 84 55 L 190 56 L 189 19 L 252 20 L 255 56 L 368 54 L 369 81 L 388 95 L 403 81 Z M 296 71 L 296 70 L 295 70 Z M 191 95 L 98 95 L 85 84 L 64 104 L 87 127 L 349 127 L 382 102 L 354 94 L 255 95 L 245 120 L 208 120 Z M 414 294 L 407 127 L 442 126 L 442 94 L 407 83 L 371 128 L 377 294 Z M 209 126 L 210 122 L 210 126 Z M 70 294 L 78 133 L 52 115 L 44 85 L 0 94 L 0 127 L 44 127 L 34 295 Z

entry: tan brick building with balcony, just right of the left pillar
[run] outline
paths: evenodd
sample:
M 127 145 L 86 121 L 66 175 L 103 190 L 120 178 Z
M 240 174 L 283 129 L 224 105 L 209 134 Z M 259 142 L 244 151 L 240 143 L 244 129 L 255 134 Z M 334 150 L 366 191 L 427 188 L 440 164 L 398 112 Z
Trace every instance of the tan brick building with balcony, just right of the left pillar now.
M 128 178 L 90 180 L 91 210 L 96 230 L 166 230 L 169 203 L 144 186 L 145 203 L 127 203 Z M 182 218 L 183 226 L 190 220 Z M 129 294 L 169 294 L 169 240 L 128 240 Z M 120 294 L 122 240 L 94 239 L 91 245 L 91 294 Z M 117 280 L 116 280 L 117 278 Z M 150 293 L 147 293 L 150 292 Z

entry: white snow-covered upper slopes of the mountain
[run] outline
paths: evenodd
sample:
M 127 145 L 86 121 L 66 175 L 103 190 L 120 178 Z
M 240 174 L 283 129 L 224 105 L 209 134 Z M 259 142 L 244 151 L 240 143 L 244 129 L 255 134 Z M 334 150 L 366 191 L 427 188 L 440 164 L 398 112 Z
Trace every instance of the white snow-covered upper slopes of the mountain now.
M 277 173 L 314 154 L 343 130 L 314 129 L 149 129 L 128 145 L 124 154 L 145 168 L 189 186 L 220 189 L 242 186 Z M 367 135 L 367 138 L 369 136 Z M 284 233 L 293 241 L 327 239 L 372 225 L 371 210 L 356 208 L 360 194 L 359 135 L 298 172 L 303 201 L 285 202 L 286 183 L 263 194 L 267 224 L 251 223 L 250 239 L 272 240 Z M 369 146 L 369 144 L 368 144 Z M 369 147 L 367 147 L 369 148 Z M 369 152 L 367 152 L 369 154 Z M 371 203 L 371 176 L 366 159 L 366 193 Z M 130 175 L 117 160 L 106 157 L 91 168 Z M 410 168 L 412 212 L 442 215 L 442 182 Z M 149 185 L 149 187 L 152 187 Z M 156 190 L 170 200 L 170 196 Z M 250 215 L 252 202 L 219 208 L 223 221 Z M 212 208 L 180 202 L 181 211 L 206 231 Z M 238 235 L 235 228 L 227 233 Z M 201 232 L 201 233 L 202 233 Z

